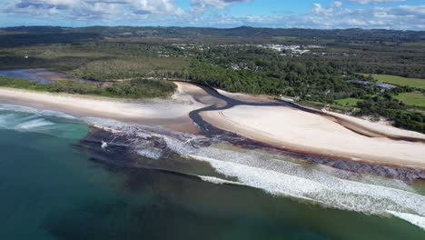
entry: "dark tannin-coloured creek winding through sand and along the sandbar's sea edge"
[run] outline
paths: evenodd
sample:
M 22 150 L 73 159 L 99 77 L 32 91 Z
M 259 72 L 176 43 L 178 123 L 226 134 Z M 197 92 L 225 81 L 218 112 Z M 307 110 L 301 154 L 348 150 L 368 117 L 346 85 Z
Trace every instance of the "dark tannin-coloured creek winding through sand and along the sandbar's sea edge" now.
M 193 120 L 193 123 L 195 123 L 198 126 L 200 133 L 204 136 L 214 138 L 221 142 L 229 143 L 232 145 L 242 146 L 247 149 L 266 149 L 268 151 L 274 152 L 275 154 L 291 156 L 291 157 L 306 161 L 310 164 L 329 165 L 341 170 L 351 171 L 355 173 L 381 175 L 385 177 L 400 179 L 406 182 L 411 182 L 414 180 L 425 180 L 425 170 L 423 169 L 417 169 L 412 167 L 402 167 L 402 166 L 396 166 L 396 165 L 375 165 L 375 164 L 371 164 L 367 162 L 352 161 L 350 159 L 342 159 L 339 157 L 330 157 L 328 155 L 317 155 L 317 154 L 311 155 L 309 153 L 305 153 L 301 151 L 294 152 L 289 149 L 278 148 L 272 145 L 262 143 L 260 141 L 243 137 L 242 135 L 237 135 L 232 132 L 223 130 L 203 120 L 201 113 L 208 112 L 208 111 L 221 111 L 221 110 L 232 108 L 237 105 L 250 105 L 250 106 L 289 106 L 297 110 L 301 110 L 301 111 L 315 114 L 315 115 L 325 115 L 325 114 L 316 109 L 312 109 L 309 107 L 304 107 L 302 105 L 292 104 L 288 102 L 283 102 L 283 101 L 252 103 L 252 102 L 236 100 L 231 97 L 221 95 L 215 89 L 209 86 L 205 86 L 205 85 L 197 85 L 197 86 L 201 87 L 208 95 L 212 95 L 213 97 L 220 99 L 224 101 L 225 103 L 225 105 L 222 105 L 222 106 L 209 105 L 201 109 L 194 110 L 189 114 L 190 118 Z M 202 102 L 202 99 L 196 98 L 196 97 L 194 98 L 195 100 Z M 345 125 L 342 125 L 342 126 L 345 127 Z M 354 131 L 352 129 L 350 130 Z M 369 136 L 369 135 L 366 135 L 366 136 Z M 422 142 L 422 140 L 418 140 L 416 138 L 410 138 L 410 137 L 391 137 L 390 136 L 389 138 L 393 140 Z

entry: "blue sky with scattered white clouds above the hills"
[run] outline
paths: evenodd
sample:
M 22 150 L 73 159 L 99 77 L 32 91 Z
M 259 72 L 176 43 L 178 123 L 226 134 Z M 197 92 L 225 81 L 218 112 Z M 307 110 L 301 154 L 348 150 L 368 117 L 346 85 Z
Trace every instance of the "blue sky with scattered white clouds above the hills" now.
M 0 0 L 0 26 L 425 30 L 425 0 Z

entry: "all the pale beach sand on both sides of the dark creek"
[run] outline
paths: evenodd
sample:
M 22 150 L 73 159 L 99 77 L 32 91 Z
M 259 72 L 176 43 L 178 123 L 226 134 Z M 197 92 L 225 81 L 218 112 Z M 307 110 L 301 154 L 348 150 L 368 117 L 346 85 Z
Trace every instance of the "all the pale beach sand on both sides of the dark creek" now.
M 199 111 L 212 105 L 224 108 L 226 103 L 198 85 L 182 82 L 175 84 L 178 86 L 176 92 L 167 99 L 117 100 L 0 88 L 0 102 L 32 106 L 79 117 L 101 117 L 199 134 L 189 115 L 195 110 Z M 226 94 L 224 91 L 220 92 Z M 226 94 L 225 97 L 235 95 L 237 94 Z M 242 94 L 237 96 L 252 101 L 259 98 Z M 355 117 L 348 115 L 319 110 L 318 112 L 309 113 L 282 105 L 242 104 L 223 110 L 201 111 L 200 115 L 214 127 L 295 154 L 325 156 L 371 165 L 425 169 L 425 159 L 421 159 L 425 155 L 423 143 L 387 137 L 397 135 L 425 139 L 425 135 L 390 126 L 376 126 L 378 124 L 354 119 Z M 345 122 L 341 123 L 341 120 Z M 354 125 L 358 130 L 376 129 L 385 135 L 372 135 L 374 137 L 362 135 L 361 131 L 352 129 L 350 125 Z M 341 145 L 341 142 L 346 146 Z

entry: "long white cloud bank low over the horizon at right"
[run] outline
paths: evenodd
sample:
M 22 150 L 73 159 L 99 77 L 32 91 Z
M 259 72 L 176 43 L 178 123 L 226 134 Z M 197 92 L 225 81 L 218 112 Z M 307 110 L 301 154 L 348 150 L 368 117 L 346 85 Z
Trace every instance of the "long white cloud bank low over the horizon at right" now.
M 245 16 L 233 19 L 236 25 L 300 28 L 384 28 L 425 30 L 425 5 L 347 8 L 332 3 L 314 4 L 305 15 Z

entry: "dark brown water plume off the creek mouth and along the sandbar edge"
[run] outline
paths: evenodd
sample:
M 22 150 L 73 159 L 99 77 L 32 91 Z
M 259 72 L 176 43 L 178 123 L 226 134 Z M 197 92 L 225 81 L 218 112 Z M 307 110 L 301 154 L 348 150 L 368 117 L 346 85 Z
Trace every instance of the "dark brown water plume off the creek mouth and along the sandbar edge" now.
M 194 137 L 193 135 L 180 134 L 166 129 L 143 126 L 133 133 L 113 133 L 93 127 L 90 134 L 76 143 L 74 147 L 88 153 L 92 161 L 106 166 L 143 167 L 188 175 L 196 173 L 197 168 L 209 168 L 204 163 L 191 161 L 176 152 L 173 146 L 165 141 L 165 138 L 169 137 L 178 141 L 181 145 L 187 145 L 187 147 L 199 148 L 217 143 L 225 143 L 237 145 L 245 149 L 265 150 L 275 155 L 299 159 L 311 165 L 328 165 L 353 173 L 380 175 L 400 179 L 408 183 L 415 180 L 425 180 L 425 171 L 421 169 L 395 165 L 374 165 L 367 162 L 310 155 L 307 153 L 293 153 L 223 131 L 213 125 L 205 124 L 204 127 L 210 133 L 207 137 Z M 103 143 L 107 143 L 105 149 L 102 148 Z M 140 149 L 152 149 L 157 154 L 140 155 Z M 161 161 L 158 161 L 159 158 L 161 158 Z M 211 167 L 207 172 L 209 174 L 214 173 Z

